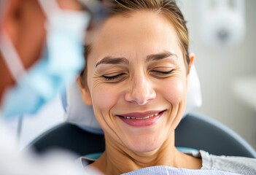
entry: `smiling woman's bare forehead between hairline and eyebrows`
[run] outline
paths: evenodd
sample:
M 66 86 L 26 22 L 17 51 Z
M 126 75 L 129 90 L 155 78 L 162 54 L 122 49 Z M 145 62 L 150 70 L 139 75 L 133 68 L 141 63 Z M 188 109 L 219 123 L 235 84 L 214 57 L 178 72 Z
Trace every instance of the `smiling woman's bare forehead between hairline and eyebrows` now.
M 92 48 L 92 54 L 99 57 L 113 54 L 130 57 L 132 54 L 148 55 L 163 50 L 180 52 L 171 21 L 152 11 L 109 18 L 94 39 Z

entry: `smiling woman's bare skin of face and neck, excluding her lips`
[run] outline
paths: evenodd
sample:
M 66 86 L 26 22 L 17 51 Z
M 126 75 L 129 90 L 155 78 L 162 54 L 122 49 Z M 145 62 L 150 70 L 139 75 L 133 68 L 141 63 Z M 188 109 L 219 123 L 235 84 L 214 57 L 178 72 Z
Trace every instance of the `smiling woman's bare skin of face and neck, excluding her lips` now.
M 163 57 L 163 53 L 171 55 Z M 148 59 L 149 55 L 161 59 Z M 190 66 L 192 63 L 193 57 Z M 91 166 L 104 174 L 158 165 L 201 168 L 201 160 L 174 147 L 188 75 L 177 34 L 167 18 L 150 11 L 109 18 L 93 41 L 87 69 L 87 85 L 77 81 L 85 104 L 93 105 L 106 139 L 106 151 Z M 150 111 L 163 111 L 153 125 L 134 127 L 118 117 Z

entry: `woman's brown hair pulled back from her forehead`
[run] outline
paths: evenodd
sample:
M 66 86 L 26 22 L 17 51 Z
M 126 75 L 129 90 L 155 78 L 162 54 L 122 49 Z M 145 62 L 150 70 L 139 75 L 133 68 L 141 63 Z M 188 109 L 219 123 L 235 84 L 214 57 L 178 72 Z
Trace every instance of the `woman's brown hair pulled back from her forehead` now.
M 127 16 L 134 11 L 147 10 L 158 12 L 159 14 L 168 18 L 168 20 L 171 20 L 179 37 L 179 45 L 182 47 L 187 73 L 189 72 L 190 58 L 188 56 L 188 31 L 186 21 L 175 0 L 109 0 L 106 1 L 106 7 L 109 11 L 109 17 L 115 15 Z M 90 53 L 90 50 L 91 45 L 86 45 L 85 61 Z M 83 70 L 80 74 L 82 85 L 85 85 L 86 70 L 87 69 L 85 66 L 85 70 Z

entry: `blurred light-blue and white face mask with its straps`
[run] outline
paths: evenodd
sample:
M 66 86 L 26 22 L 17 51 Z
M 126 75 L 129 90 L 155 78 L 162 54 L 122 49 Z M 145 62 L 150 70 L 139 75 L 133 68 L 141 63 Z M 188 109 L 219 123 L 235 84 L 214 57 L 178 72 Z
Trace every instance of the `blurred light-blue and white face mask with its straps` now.
M 83 39 L 89 14 L 60 9 L 56 0 L 39 0 L 39 4 L 47 16 L 47 42 L 42 59 L 31 69 L 23 68 L 15 47 L 1 31 L 0 51 L 17 83 L 4 94 L 4 117 L 36 113 L 74 80 L 85 65 Z

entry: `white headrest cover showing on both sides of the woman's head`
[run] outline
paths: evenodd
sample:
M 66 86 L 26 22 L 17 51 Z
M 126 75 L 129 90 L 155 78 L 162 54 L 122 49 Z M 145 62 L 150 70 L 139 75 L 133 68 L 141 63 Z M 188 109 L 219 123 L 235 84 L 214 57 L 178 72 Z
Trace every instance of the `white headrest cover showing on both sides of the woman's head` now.
M 75 82 L 62 98 L 66 110 L 66 122 L 78 125 L 80 128 L 93 133 L 103 133 L 93 114 L 93 107 L 87 106 L 82 101 L 82 95 Z M 195 66 L 190 69 L 189 88 L 187 90 L 187 104 L 184 116 L 202 104 L 201 87 Z

